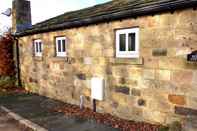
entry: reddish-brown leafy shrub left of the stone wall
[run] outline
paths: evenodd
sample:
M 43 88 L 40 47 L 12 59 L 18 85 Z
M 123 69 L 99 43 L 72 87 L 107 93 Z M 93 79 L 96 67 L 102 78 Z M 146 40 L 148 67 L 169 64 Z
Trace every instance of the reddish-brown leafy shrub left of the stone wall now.
M 0 88 L 15 84 L 13 43 L 14 40 L 9 34 L 0 38 Z

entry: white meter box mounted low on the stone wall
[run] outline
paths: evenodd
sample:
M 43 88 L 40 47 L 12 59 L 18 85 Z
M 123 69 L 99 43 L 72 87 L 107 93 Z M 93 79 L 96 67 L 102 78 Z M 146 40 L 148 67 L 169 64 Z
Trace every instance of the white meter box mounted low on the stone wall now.
M 91 97 L 92 99 L 102 101 L 104 99 L 104 86 L 103 78 L 93 77 L 91 79 Z

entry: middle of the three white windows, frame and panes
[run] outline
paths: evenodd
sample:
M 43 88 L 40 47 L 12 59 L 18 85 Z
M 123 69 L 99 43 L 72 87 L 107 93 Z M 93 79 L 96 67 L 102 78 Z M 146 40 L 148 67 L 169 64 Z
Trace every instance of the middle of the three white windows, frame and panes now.
M 56 38 L 56 56 L 66 56 L 66 37 Z

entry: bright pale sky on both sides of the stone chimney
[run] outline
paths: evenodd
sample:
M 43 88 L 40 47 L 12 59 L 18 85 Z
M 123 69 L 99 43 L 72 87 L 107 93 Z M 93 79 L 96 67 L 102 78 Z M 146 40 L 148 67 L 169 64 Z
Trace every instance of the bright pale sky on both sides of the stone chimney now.
M 110 0 L 29 0 L 31 1 L 32 24 L 55 17 L 67 11 L 78 10 Z M 12 0 L 0 0 L 0 33 L 11 26 L 11 17 L 2 15 L 12 7 Z

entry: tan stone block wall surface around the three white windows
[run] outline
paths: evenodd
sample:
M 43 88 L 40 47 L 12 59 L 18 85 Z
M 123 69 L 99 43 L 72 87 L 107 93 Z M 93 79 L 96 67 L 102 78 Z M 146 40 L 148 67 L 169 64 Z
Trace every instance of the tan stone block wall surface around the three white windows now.
M 90 79 L 104 77 L 105 100 L 98 111 L 125 119 L 167 124 L 197 109 L 197 64 L 186 54 L 197 49 L 197 11 L 125 19 L 21 37 L 23 85 L 33 92 L 91 107 Z M 115 57 L 115 29 L 140 28 L 140 58 Z M 55 37 L 69 40 L 68 57 L 55 57 Z M 43 57 L 33 56 L 33 39 L 42 39 Z

